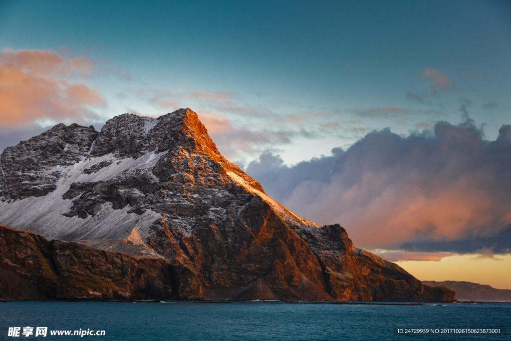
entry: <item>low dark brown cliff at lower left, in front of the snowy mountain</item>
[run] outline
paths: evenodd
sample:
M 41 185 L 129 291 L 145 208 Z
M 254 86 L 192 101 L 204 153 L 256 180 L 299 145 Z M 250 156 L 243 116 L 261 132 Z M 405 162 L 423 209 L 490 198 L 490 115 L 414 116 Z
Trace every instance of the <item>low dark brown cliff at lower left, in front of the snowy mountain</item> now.
M 0 299 L 165 300 L 190 270 L 0 225 Z

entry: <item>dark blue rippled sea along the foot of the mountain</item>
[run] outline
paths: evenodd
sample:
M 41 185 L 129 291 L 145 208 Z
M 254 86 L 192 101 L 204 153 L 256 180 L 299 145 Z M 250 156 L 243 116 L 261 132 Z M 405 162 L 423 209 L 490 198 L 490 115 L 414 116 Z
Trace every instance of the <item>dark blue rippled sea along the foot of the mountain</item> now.
M 0 302 L 0 339 L 10 340 L 490 340 L 511 339 L 510 324 L 508 303 Z M 47 336 L 23 336 L 27 326 L 48 327 Z M 8 336 L 9 327 L 21 327 L 20 336 Z M 411 328 L 430 332 L 398 333 Z M 448 334 L 446 328 L 500 333 Z M 80 329 L 105 330 L 105 335 L 50 335 Z

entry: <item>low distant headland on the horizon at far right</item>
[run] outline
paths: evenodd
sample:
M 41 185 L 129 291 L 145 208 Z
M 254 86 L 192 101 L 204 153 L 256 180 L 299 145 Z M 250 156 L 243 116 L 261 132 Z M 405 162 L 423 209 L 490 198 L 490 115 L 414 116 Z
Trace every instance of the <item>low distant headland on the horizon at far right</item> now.
M 445 286 L 456 291 L 459 301 L 500 301 L 511 302 L 511 290 L 496 289 L 490 285 L 464 281 L 422 281 L 431 286 Z

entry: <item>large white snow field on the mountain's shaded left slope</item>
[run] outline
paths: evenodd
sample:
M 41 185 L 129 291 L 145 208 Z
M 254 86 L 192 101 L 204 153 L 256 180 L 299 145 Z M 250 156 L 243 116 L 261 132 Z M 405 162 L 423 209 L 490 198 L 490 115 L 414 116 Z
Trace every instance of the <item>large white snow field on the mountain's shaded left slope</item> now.
M 133 228 L 143 240 L 147 239 L 151 235 L 150 225 L 161 218 L 159 213 L 152 210 L 147 210 L 142 215 L 128 213 L 129 206 L 113 210 L 112 203 L 106 202 L 95 216 L 86 218 L 66 217 L 63 214 L 73 206 L 73 199 L 62 199 L 62 196 L 69 190 L 71 184 L 76 182 L 96 183 L 112 178 L 122 178 L 123 174 L 136 170 L 143 170 L 148 175 L 152 175 L 152 167 L 156 165 L 159 157 L 164 153 L 153 151 L 137 159 L 119 159 L 112 154 L 107 154 L 86 158 L 68 167 L 53 167 L 46 172 L 48 174 L 59 172 L 62 175 L 57 181 L 57 188 L 53 192 L 40 197 L 0 202 L 0 222 L 20 229 L 34 231 L 48 238 L 72 241 L 127 238 Z M 112 161 L 112 164 L 96 173 L 83 173 L 86 168 L 107 160 Z

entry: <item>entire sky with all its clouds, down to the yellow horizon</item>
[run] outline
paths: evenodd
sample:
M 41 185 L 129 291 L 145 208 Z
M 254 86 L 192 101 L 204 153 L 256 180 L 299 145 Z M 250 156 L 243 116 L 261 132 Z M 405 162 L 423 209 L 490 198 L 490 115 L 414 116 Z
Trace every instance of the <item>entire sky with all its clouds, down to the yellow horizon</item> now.
M 0 151 L 190 107 L 270 195 L 422 280 L 511 289 L 510 80 L 507 1 L 0 2 Z

